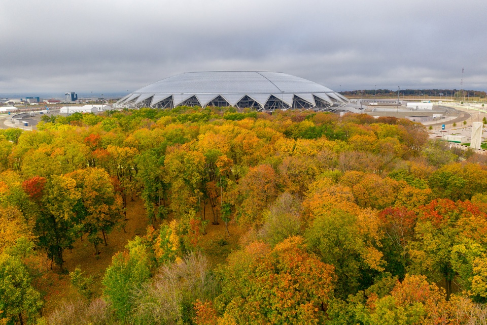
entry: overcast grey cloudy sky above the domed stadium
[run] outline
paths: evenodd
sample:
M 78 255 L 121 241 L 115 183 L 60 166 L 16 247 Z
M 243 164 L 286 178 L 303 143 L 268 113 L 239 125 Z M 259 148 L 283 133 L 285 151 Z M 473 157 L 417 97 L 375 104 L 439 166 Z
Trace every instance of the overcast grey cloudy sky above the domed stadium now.
M 2 0 L 0 95 L 129 92 L 208 70 L 334 90 L 487 88 L 485 0 Z

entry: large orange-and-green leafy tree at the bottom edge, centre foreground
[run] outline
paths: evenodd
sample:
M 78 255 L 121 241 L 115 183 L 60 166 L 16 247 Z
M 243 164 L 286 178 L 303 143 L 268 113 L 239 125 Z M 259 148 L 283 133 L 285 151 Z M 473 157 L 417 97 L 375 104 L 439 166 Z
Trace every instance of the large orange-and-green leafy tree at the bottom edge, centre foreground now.
M 333 292 L 333 266 L 308 253 L 302 237 L 237 252 L 222 276 L 216 302 L 227 323 L 318 324 Z

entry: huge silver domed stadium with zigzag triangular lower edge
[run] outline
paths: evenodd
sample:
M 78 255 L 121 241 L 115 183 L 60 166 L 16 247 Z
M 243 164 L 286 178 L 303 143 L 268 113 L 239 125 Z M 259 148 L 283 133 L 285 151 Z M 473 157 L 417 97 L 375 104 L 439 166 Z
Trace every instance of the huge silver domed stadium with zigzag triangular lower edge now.
M 332 109 L 344 96 L 315 82 L 281 72 L 188 72 L 135 90 L 119 101 L 125 107 L 233 106 L 258 110 Z

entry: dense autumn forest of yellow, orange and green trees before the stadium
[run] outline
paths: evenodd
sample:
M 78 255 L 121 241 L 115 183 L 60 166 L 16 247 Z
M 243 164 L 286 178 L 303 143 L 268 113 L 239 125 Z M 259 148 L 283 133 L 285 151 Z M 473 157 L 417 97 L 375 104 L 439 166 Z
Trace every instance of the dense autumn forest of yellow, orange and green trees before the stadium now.
M 487 155 L 234 108 L 0 130 L 0 324 L 485 324 Z

